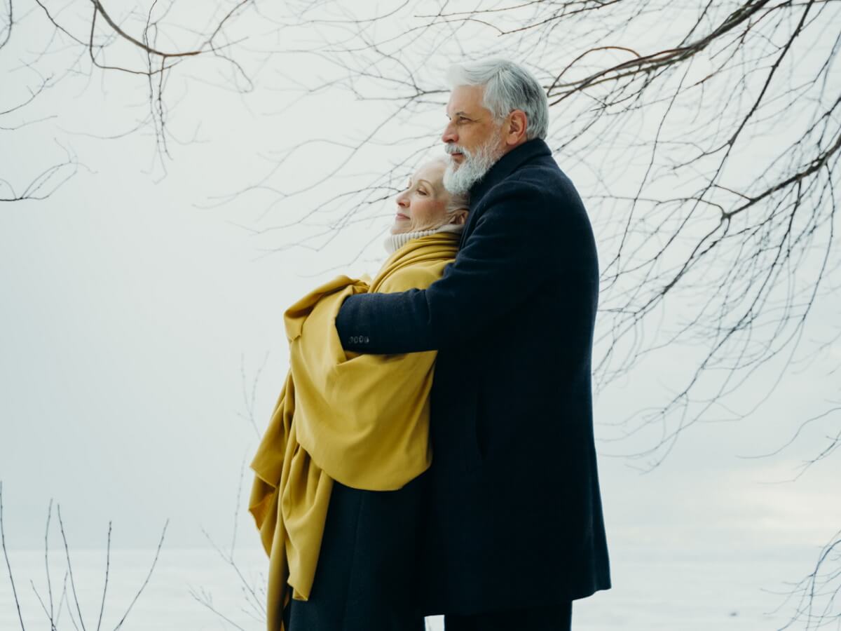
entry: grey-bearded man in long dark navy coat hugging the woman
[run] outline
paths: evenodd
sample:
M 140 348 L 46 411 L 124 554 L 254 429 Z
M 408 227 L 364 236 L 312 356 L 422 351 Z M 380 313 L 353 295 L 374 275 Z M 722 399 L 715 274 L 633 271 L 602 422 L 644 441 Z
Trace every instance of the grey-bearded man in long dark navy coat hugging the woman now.
M 590 220 L 546 142 L 546 94 L 510 61 L 454 66 L 444 185 L 469 193 L 428 289 L 359 294 L 357 353 L 437 350 L 421 607 L 447 631 L 570 628 L 611 586 L 593 438 L 599 273 Z

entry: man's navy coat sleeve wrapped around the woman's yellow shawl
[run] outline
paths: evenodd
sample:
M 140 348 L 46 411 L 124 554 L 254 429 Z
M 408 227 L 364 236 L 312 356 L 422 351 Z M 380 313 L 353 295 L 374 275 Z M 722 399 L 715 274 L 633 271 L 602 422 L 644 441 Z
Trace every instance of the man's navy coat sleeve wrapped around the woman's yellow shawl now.
M 558 266 L 563 208 L 532 183 L 506 182 L 488 195 L 493 197 L 455 261 L 428 289 L 344 301 L 336 316 L 342 347 L 357 353 L 440 350 L 482 335 L 501 316 L 526 306 Z

